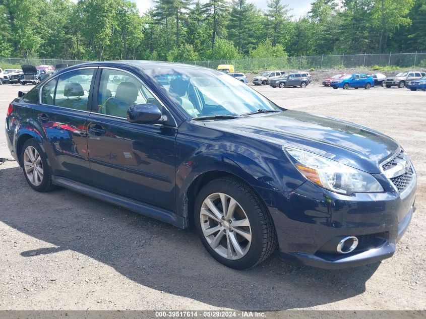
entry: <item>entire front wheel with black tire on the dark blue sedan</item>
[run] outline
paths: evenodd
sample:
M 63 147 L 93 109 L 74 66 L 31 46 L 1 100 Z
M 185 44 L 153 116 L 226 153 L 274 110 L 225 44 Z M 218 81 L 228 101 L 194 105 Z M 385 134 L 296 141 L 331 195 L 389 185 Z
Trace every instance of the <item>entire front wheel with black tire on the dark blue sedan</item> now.
M 223 177 L 207 183 L 197 196 L 195 224 L 201 242 L 219 263 L 251 268 L 277 246 L 271 215 L 244 182 Z

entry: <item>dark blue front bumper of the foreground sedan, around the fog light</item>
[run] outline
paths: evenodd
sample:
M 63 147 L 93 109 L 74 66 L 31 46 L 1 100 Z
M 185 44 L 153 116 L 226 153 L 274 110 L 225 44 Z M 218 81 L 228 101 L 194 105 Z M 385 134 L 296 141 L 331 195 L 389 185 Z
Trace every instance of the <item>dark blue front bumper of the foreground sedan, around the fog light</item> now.
M 275 224 L 280 256 L 325 269 L 392 257 L 415 210 L 416 178 L 401 196 L 396 190 L 386 190 L 345 196 L 307 181 L 290 193 L 262 195 Z M 324 251 L 326 243 L 341 236 L 356 236 L 364 243 L 347 254 Z

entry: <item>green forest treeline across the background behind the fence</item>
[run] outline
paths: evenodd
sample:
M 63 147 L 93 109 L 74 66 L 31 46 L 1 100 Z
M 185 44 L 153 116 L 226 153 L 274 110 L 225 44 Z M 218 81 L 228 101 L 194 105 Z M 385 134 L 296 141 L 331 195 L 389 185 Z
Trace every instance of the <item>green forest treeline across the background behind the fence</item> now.
M 426 50 L 426 0 L 0 0 L 0 56 L 219 60 Z

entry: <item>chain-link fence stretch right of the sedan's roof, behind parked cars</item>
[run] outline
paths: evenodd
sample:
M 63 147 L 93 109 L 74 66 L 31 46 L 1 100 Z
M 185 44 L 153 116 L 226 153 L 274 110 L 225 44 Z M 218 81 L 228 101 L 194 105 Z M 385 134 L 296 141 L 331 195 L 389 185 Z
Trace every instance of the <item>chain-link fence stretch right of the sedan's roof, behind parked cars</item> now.
M 400 68 L 426 68 L 426 53 L 342 54 L 293 57 L 248 58 L 238 60 L 183 61 L 190 65 L 217 69 L 218 65 L 230 64 L 238 71 L 271 69 L 343 69 L 373 66 Z

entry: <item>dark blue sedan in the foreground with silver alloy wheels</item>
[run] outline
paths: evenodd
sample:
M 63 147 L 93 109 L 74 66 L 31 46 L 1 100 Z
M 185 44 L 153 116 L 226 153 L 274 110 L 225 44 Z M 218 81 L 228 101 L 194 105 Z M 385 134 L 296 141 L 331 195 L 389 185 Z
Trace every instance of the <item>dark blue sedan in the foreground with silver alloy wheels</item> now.
M 414 211 L 416 172 L 393 139 L 188 65 L 62 70 L 9 105 L 6 135 L 38 192 L 62 186 L 195 225 L 235 269 L 277 245 L 316 267 L 375 263 L 392 256 Z

